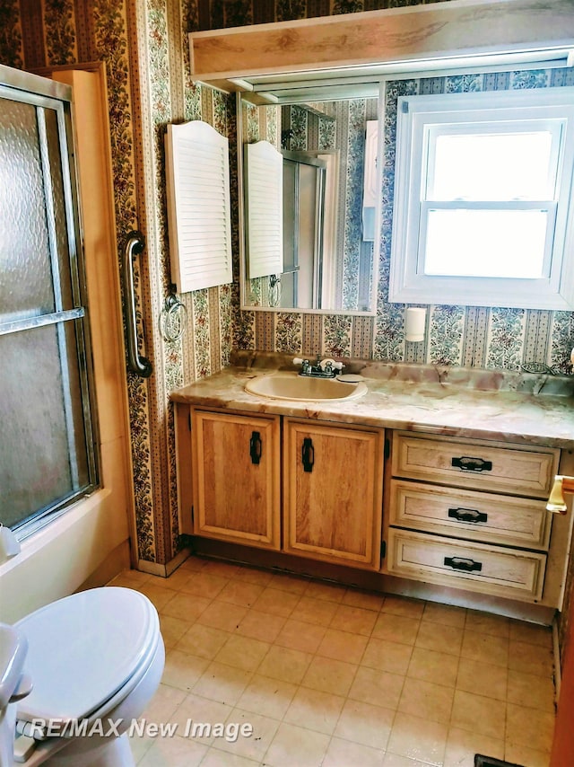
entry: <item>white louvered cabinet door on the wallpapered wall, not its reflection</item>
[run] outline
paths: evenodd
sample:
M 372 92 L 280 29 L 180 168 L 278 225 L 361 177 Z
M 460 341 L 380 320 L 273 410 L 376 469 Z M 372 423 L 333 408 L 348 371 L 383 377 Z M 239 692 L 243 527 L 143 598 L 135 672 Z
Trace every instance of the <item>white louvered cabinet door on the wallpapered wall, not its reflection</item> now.
M 232 281 L 229 144 L 202 120 L 165 137 L 171 281 L 178 293 Z

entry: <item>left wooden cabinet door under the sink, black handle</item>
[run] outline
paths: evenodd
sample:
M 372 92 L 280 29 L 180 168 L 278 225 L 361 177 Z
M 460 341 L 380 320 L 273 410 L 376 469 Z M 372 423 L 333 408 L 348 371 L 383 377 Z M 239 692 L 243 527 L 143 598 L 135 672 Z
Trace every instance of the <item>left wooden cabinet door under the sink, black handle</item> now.
M 280 548 L 280 444 L 277 417 L 195 410 L 194 532 Z

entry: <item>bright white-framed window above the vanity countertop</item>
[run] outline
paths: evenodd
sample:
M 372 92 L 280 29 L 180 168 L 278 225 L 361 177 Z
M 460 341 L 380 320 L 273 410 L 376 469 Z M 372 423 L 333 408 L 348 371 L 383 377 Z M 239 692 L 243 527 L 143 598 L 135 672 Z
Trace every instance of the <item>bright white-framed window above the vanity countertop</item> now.
M 574 89 L 399 98 L 389 300 L 574 308 Z

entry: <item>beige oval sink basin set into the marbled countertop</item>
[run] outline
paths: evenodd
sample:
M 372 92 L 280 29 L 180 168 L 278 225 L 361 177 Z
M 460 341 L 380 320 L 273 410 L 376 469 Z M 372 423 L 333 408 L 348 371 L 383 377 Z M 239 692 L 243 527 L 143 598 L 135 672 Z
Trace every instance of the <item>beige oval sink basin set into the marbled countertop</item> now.
M 362 397 L 367 386 L 362 381 L 348 383 L 336 378 L 310 378 L 285 372 L 260 375 L 245 384 L 245 391 L 272 400 L 343 402 Z

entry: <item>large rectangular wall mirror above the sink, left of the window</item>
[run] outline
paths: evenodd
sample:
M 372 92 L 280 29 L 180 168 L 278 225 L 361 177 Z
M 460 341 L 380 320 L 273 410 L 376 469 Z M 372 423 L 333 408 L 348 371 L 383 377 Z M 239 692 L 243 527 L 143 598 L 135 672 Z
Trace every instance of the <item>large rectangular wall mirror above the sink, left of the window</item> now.
M 293 103 L 239 96 L 243 308 L 376 311 L 378 91 L 323 90 Z

